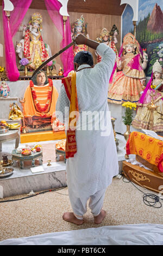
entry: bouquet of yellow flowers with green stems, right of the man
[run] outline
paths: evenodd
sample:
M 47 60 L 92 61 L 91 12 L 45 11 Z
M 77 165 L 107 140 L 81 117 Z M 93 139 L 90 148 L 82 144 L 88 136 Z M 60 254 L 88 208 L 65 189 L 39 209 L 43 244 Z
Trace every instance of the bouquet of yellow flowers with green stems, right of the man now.
M 131 123 L 133 121 L 133 109 L 136 110 L 136 103 L 127 101 L 122 104 L 122 107 L 126 108 L 125 113 L 124 113 L 125 115 L 124 115 L 124 117 L 122 117 L 123 123 L 125 125 L 131 125 Z

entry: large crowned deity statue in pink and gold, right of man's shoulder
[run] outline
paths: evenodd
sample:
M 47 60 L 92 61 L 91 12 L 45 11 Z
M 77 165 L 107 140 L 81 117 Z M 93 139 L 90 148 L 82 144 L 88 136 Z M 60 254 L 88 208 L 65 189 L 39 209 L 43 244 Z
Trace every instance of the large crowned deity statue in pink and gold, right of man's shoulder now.
M 142 52 L 135 36 L 126 34 L 110 77 L 108 102 L 139 101 L 146 80 L 143 70 L 147 68 L 147 62 L 147 53 Z

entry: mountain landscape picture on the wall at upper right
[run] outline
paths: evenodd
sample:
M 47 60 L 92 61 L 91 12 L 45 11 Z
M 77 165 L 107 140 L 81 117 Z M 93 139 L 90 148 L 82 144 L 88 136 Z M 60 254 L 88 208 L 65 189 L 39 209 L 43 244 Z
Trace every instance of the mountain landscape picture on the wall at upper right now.
M 136 22 L 136 39 L 143 49 L 147 49 L 148 65 L 145 70 L 146 76 L 151 76 L 152 66 L 158 59 L 163 66 L 163 1 L 140 0 L 139 1 L 139 21 Z M 128 19 L 126 19 L 128 17 Z M 130 17 L 130 22 L 129 22 Z M 134 33 L 133 10 L 129 6 L 128 11 L 122 17 L 123 25 L 128 20 L 128 28 L 122 31 L 122 36 L 126 32 Z M 127 30 L 128 31 L 125 31 Z

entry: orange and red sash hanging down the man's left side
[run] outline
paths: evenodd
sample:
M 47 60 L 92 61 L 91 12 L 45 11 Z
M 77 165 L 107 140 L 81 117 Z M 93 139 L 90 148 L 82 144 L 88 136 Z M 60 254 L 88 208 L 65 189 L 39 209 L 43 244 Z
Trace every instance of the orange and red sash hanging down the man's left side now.
M 67 97 L 70 100 L 70 112 L 65 149 L 66 159 L 68 159 L 69 157 L 74 157 L 74 154 L 77 153 L 76 126 L 79 109 L 76 87 L 76 72 L 74 72 L 70 77 L 62 78 L 62 83 L 64 84 Z

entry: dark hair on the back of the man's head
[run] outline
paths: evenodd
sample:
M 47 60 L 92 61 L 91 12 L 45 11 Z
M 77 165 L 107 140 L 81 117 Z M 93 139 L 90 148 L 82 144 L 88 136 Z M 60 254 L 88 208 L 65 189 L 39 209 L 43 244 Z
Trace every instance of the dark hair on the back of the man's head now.
M 76 62 L 79 65 L 88 64 L 90 66 L 93 66 L 93 56 L 90 52 L 81 51 L 76 54 L 73 62 Z

